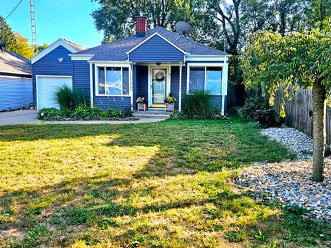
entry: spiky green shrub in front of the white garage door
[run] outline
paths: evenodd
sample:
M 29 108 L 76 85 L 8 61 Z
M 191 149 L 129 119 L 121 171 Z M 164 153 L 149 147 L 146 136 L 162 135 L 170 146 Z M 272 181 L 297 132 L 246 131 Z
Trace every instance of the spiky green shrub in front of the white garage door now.
M 81 90 L 72 90 L 68 85 L 57 88 L 54 99 L 60 105 L 61 110 L 75 110 L 85 103 L 84 94 Z

